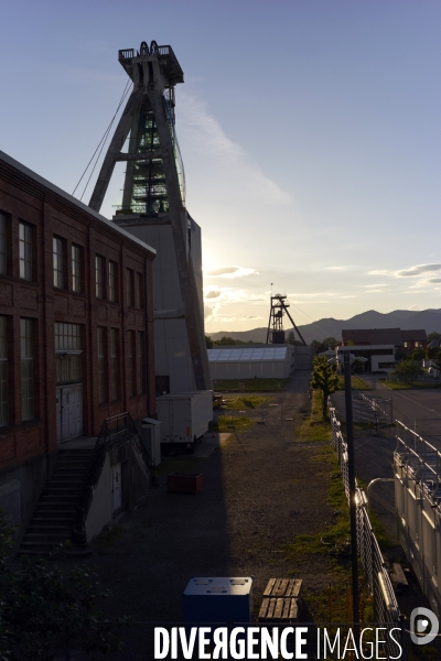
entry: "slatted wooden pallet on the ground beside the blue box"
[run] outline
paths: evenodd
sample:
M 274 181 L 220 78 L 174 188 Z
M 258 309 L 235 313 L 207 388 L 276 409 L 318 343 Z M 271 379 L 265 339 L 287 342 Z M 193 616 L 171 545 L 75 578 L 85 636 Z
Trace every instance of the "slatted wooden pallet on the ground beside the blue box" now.
M 263 590 L 259 622 L 295 622 L 301 605 L 300 578 L 270 578 Z

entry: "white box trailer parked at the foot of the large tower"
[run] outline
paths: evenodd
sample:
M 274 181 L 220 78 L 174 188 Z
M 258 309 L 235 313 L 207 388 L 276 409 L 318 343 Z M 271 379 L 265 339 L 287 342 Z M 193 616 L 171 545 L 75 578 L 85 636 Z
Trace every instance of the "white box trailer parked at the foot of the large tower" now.
M 213 420 L 213 390 L 157 397 L 157 411 L 162 449 L 166 452 L 179 443 L 194 452 L 196 442 L 208 431 Z

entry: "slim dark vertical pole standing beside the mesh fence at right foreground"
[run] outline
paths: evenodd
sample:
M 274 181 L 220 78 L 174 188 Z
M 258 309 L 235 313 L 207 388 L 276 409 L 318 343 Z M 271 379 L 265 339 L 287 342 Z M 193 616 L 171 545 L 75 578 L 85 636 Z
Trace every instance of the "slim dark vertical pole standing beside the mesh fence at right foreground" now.
M 358 596 L 358 553 L 357 553 L 357 513 L 355 502 L 355 456 L 354 423 L 352 418 L 351 357 L 344 354 L 345 405 L 346 405 L 346 444 L 347 468 L 349 474 L 349 516 L 351 516 L 351 559 L 352 559 L 352 607 L 354 620 L 354 639 L 359 644 L 359 596 Z

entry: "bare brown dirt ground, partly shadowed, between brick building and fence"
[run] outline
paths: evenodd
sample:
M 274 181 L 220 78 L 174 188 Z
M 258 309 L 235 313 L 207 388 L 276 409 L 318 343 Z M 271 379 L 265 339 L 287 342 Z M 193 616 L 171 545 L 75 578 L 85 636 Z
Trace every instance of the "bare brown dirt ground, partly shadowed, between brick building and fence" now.
M 96 540 L 87 562 L 112 592 L 106 613 L 133 618 L 123 650 L 112 659 L 147 658 L 149 627 L 182 621 L 182 593 L 193 576 L 252 576 L 256 613 L 271 577 L 302 578 L 305 596 L 335 578 L 326 557 L 295 565 L 286 553 L 298 534 L 318 533 L 333 519 L 326 503 L 332 468 L 316 462 L 327 443 L 302 443 L 294 435 L 306 411 L 309 378 L 298 372 L 287 391 L 271 395 L 265 423 L 258 411 L 259 422 L 233 433 L 208 457 L 164 460 L 163 474 L 203 473 L 203 492 L 169 494 L 163 475 L 136 511 Z

